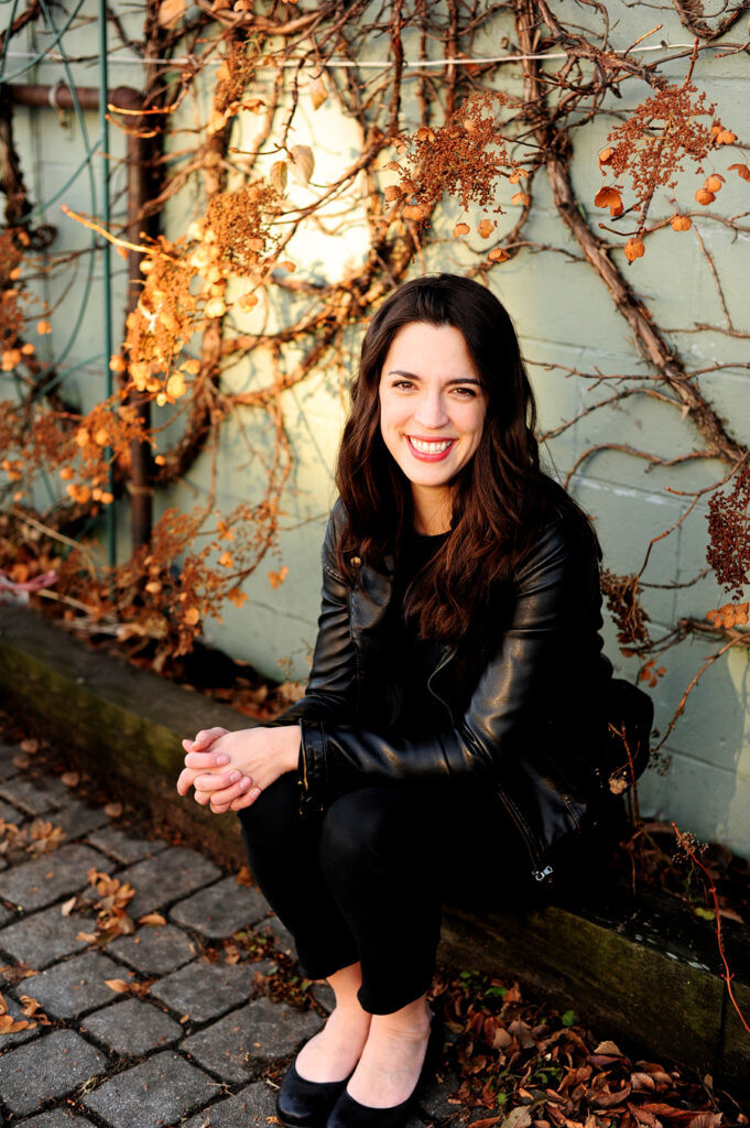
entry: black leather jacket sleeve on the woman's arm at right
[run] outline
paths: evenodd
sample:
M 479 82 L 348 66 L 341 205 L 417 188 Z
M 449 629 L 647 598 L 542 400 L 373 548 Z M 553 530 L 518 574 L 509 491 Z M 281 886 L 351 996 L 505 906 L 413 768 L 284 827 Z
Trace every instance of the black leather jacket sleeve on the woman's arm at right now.
M 496 777 L 504 757 L 522 747 L 530 714 L 540 703 L 544 707 L 556 684 L 550 679 L 558 684 L 561 671 L 575 663 L 581 624 L 591 624 L 599 614 L 594 538 L 588 529 L 581 534 L 559 520 L 542 530 L 517 573 L 510 624 L 452 728 L 424 739 L 399 739 L 325 717 L 302 719 L 305 802 L 316 808 L 332 790 L 363 777 Z

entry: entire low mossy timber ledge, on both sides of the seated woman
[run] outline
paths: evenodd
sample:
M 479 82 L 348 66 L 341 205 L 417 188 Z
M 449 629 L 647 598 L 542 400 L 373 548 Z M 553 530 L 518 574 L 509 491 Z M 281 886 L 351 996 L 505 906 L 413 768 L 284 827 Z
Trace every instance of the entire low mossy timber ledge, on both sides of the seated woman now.
M 0 606 L 0 702 L 33 717 L 113 793 L 223 861 L 245 860 L 236 819 L 180 800 L 180 737 L 252 722 L 241 713 L 89 650 L 38 615 Z M 750 1013 L 750 935 L 729 922 L 733 989 Z M 636 1056 L 668 1056 L 750 1092 L 750 1036 L 727 997 L 714 927 L 680 901 L 607 891 L 595 902 L 513 913 L 445 911 L 441 954 L 514 976 Z

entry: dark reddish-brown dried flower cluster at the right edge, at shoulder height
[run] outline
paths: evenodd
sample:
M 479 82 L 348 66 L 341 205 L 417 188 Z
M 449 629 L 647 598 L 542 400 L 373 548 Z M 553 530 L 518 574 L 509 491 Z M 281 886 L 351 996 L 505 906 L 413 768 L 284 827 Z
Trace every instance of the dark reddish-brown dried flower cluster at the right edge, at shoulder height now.
M 706 559 L 725 591 L 738 597 L 750 583 L 750 464 L 735 474 L 730 491 L 708 501 Z

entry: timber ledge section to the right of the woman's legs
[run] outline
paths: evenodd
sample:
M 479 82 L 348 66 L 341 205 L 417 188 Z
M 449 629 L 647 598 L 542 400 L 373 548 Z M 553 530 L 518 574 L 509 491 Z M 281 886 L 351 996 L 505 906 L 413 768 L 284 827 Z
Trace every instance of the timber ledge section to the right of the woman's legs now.
M 745 1015 L 750 1002 L 748 929 L 723 925 Z M 513 976 L 561 1010 L 620 1040 L 636 1057 L 664 1055 L 750 1094 L 750 1036 L 722 979 L 716 934 L 677 898 L 609 890 L 601 900 L 514 913 L 443 917 L 449 962 Z

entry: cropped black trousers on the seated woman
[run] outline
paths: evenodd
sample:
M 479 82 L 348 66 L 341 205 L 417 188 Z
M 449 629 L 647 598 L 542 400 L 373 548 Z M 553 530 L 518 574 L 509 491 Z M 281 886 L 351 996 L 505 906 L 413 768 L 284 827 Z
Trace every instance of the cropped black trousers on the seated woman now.
M 360 1003 L 391 1014 L 431 984 L 444 899 L 528 899 L 522 844 L 486 783 L 388 783 L 300 817 L 288 773 L 240 811 L 255 879 L 294 937 L 303 973 L 358 961 Z

